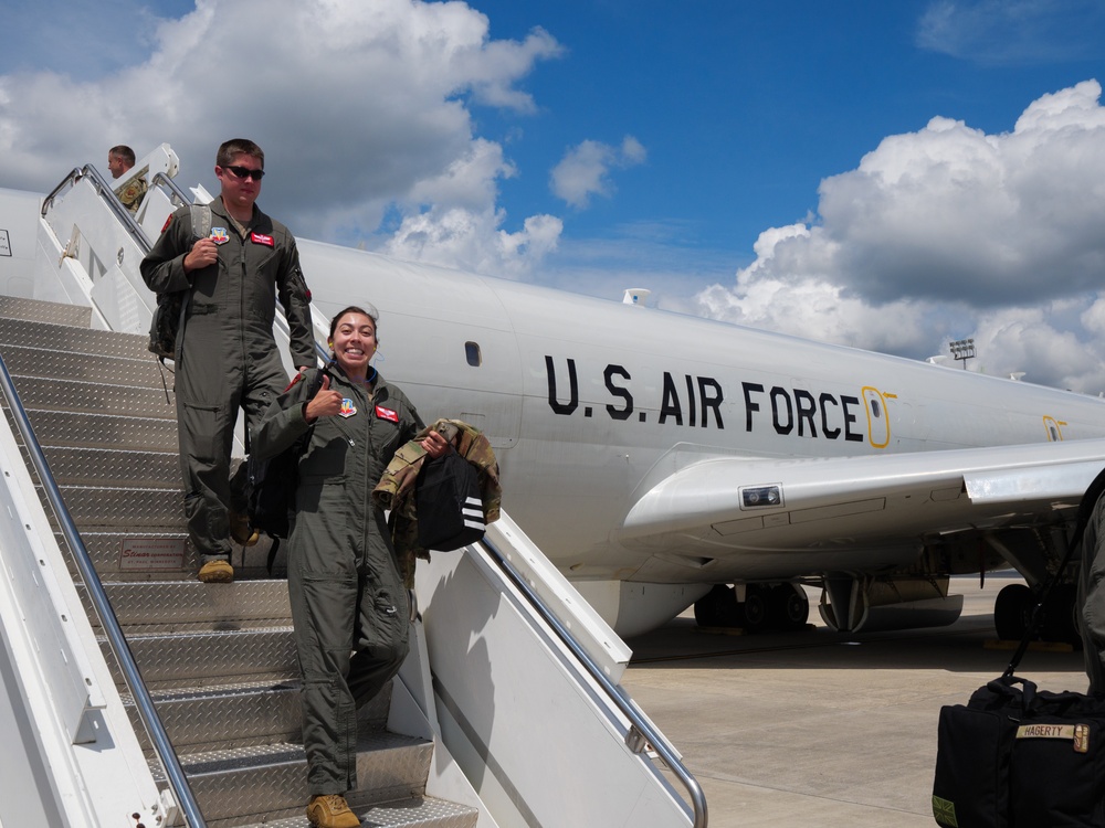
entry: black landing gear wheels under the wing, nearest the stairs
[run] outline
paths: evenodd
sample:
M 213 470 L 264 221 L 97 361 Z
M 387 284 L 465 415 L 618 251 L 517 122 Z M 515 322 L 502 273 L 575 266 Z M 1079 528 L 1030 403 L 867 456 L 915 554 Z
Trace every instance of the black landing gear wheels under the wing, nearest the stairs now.
M 801 629 L 809 617 L 806 591 L 794 584 L 748 584 L 743 602 L 732 586 L 718 584 L 694 605 L 699 627 L 741 627 L 749 633 Z

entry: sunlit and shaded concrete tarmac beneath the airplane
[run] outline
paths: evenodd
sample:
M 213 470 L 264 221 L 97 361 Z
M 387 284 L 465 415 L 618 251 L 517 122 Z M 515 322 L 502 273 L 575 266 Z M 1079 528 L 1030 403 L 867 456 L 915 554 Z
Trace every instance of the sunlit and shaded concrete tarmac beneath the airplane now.
M 699 629 L 688 611 L 629 639 L 623 687 L 683 755 L 712 828 L 930 828 L 940 708 L 965 704 L 1013 655 L 993 630 L 993 598 L 1015 576 L 956 578 L 949 627 L 833 633 L 810 593 L 803 631 Z M 1084 692 L 1082 652 L 1033 647 L 1017 675 Z

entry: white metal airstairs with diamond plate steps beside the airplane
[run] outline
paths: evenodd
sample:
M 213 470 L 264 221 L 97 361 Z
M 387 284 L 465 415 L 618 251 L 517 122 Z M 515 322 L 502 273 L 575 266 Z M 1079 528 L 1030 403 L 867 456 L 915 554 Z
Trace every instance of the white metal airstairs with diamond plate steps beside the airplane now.
M 138 169 L 152 179 L 156 166 Z M 196 581 L 171 374 L 145 335 L 105 329 L 148 326 L 141 238 L 94 170 L 74 174 L 72 191 L 90 192 L 64 197 L 62 221 L 43 219 L 34 269 L 36 286 L 50 274 L 50 293 L 70 301 L 0 297 L 0 381 L 10 374 L 19 397 L 0 434 L 13 527 L 0 526 L 0 739 L 28 756 L 25 778 L 0 773 L 0 825 L 306 826 L 286 582 L 269 575 L 265 540 L 238 549 L 234 583 Z M 147 234 L 173 190 L 151 188 Z M 53 238 L 70 222 L 69 240 Z M 75 541 L 51 484 L 28 473 L 21 410 Z M 59 552 L 71 545 L 87 550 L 145 689 L 127 680 L 80 550 Z M 418 580 L 411 656 L 361 712 L 349 802 L 364 825 L 706 825 L 697 784 L 618 683 L 628 649 L 508 516 L 486 544 L 420 562 Z M 145 699 L 164 736 L 144 721 Z

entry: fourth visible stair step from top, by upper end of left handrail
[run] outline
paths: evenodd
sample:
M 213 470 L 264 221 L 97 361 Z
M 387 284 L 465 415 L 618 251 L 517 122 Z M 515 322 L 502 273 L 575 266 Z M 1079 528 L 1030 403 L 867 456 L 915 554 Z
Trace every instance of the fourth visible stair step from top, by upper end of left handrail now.
M 27 408 L 44 411 L 83 411 L 90 414 L 141 414 L 146 417 L 177 417 L 169 391 L 134 385 L 107 385 L 101 382 L 59 382 L 41 376 L 12 376 L 19 399 Z

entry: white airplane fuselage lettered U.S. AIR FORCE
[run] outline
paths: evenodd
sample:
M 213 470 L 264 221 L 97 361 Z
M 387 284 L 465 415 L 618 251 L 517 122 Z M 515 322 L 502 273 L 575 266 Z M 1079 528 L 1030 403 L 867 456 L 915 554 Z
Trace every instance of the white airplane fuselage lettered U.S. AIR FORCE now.
M 756 482 L 771 458 L 1105 437 L 1105 403 L 1081 394 L 329 245 L 301 253 L 320 309 L 380 310 L 378 368 L 424 417 L 490 435 L 504 506 L 577 578 L 790 577 L 917 554 L 915 532 L 873 523 L 877 541 L 827 549 L 794 532 L 765 549 L 750 534 L 701 572 L 669 566 L 701 551 L 636 542 L 624 519 L 711 458 L 748 460 Z

